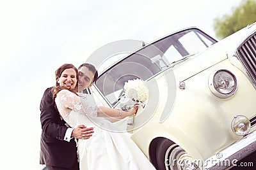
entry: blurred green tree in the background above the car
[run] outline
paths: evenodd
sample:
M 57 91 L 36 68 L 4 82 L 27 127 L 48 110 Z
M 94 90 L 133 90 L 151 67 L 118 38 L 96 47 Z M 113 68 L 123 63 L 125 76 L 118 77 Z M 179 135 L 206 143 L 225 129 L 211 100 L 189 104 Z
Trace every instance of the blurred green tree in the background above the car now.
M 223 15 L 214 19 L 214 31 L 223 39 L 256 21 L 256 0 L 241 1 L 237 8 L 232 8 L 232 15 Z

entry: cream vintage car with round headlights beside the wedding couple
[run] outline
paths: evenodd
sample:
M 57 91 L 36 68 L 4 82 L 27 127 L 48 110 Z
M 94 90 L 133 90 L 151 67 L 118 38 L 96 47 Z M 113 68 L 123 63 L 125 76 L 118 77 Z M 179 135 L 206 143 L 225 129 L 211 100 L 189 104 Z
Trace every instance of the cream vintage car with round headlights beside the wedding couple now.
M 255 150 L 255 23 L 218 42 L 191 27 L 111 59 L 89 58 L 100 72 L 93 94 L 121 108 L 125 82 L 145 81 L 148 100 L 127 130 L 157 169 L 225 169 Z

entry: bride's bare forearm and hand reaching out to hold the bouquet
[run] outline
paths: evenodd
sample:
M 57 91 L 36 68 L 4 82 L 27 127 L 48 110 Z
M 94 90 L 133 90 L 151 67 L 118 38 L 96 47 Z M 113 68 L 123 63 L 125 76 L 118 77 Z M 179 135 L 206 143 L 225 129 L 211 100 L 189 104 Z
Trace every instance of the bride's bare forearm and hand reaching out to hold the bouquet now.
M 126 112 L 123 110 L 116 110 L 113 108 L 106 108 L 104 106 L 100 106 L 97 110 L 97 116 L 98 117 L 113 117 L 113 118 L 125 118 L 129 117 L 131 115 L 136 114 L 138 107 L 134 107 L 133 110 Z

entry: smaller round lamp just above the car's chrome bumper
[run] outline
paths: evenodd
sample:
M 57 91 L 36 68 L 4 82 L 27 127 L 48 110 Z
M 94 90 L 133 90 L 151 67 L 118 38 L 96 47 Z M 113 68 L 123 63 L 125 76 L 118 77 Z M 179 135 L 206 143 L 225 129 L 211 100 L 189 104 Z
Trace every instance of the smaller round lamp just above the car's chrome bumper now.
M 233 132 L 235 132 L 239 136 L 244 136 L 248 134 L 251 128 L 250 120 L 244 115 L 237 115 L 233 118 L 231 127 Z

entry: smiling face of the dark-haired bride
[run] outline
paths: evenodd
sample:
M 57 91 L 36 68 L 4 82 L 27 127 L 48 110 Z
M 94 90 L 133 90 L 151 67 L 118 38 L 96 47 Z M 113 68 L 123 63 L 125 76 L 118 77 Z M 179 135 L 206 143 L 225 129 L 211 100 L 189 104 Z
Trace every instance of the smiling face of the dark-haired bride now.
M 58 78 L 58 83 L 61 87 L 66 87 L 67 89 L 74 89 L 76 87 L 76 71 L 74 69 L 65 69 L 60 78 Z

